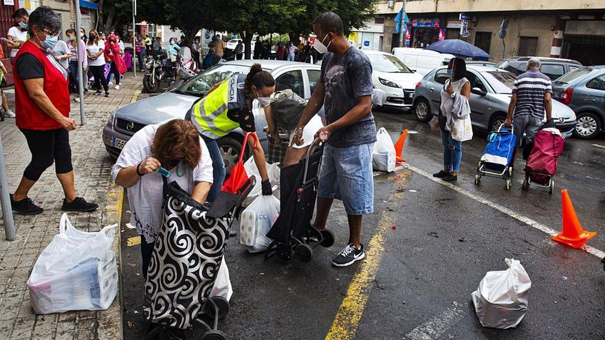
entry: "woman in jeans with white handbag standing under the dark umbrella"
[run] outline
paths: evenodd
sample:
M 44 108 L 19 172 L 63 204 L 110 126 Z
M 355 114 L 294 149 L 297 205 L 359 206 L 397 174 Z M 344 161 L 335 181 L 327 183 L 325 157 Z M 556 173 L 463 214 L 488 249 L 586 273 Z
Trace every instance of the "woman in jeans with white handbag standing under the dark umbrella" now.
M 470 127 L 470 82 L 465 78 L 463 58 L 453 58 L 448 64 L 448 79 L 441 89 L 441 107 L 435 127 L 441 130 L 443 143 L 443 170 L 433 177 L 456 181 L 462 159 L 462 141 L 472 137 Z M 470 136 L 470 137 L 469 137 Z

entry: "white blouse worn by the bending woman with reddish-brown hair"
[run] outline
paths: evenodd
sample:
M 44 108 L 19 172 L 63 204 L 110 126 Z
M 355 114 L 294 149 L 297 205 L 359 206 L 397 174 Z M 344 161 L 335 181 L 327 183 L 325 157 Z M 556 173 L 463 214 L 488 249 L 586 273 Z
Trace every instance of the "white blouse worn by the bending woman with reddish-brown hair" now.
M 164 124 L 148 125 L 137 131 L 135 135 L 126 143 L 118 161 L 111 169 L 111 176 L 115 182 L 118 172 L 123 168 L 135 166 L 144 161 L 147 157 L 153 157 L 151 144 L 157 128 Z M 182 161 L 173 170 L 170 170 L 168 182 L 176 181 L 181 189 L 193 192 L 195 183 L 212 183 L 212 159 L 201 137 L 199 138 L 201 147 L 201 159 L 194 169 L 189 169 Z M 180 175 L 180 176 L 179 176 Z M 158 172 L 146 174 L 128 189 L 128 201 L 131 209 L 130 222 L 134 225 L 139 234 L 145 236 L 148 243 L 153 242 L 157 236 L 157 231 L 162 225 L 162 202 L 164 201 L 164 181 L 162 175 Z

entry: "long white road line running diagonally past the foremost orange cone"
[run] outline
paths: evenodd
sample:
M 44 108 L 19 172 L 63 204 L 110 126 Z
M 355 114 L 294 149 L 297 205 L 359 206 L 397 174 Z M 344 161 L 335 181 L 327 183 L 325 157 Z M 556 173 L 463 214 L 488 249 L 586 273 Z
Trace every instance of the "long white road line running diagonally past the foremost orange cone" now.
M 551 229 L 550 227 L 547 227 L 546 225 L 543 225 L 542 223 L 538 223 L 538 221 L 536 221 L 536 220 L 532 220 L 531 218 L 529 218 L 527 216 L 523 216 L 522 214 L 519 214 L 518 212 L 514 212 L 513 210 L 511 210 L 507 207 L 503 207 L 502 205 L 499 205 L 497 203 L 484 199 L 483 197 L 477 196 L 476 194 L 472 194 L 472 192 L 468 192 L 467 190 L 464 190 L 463 188 L 460 188 L 459 186 L 453 185 L 452 183 L 444 182 L 444 181 L 441 181 L 441 179 L 432 177 L 432 174 L 429 174 L 428 172 L 426 172 L 424 170 L 416 168 L 415 166 L 410 166 L 409 163 L 404 163 L 404 168 L 412 170 L 413 172 L 416 172 L 417 174 L 420 174 L 423 177 L 426 177 L 426 178 L 430 179 L 431 181 L 434 181 L 435 183 L 439 183 L 452 190 L 456 190 L 457 192 L 460 192 L 461 194 L 469 197 L 470 199 L 474 199 L 475 201 L 477 201 L 479 203 L 483 203 L 483 204 L 487 205 L 488 207 L 492 207 L 492 208 L 498 210 L 499 212 L 503 212 L 504 214 L 507 214 L 508 216 L 511 216 L 512 218 L 515 218 L 516 220 L 519 220 L 520 222 L 525 223 L 526 225 L 529 225 L 530 227 L 534 227 L 534 228 L 544 232 L 545 234 L 548 234 L 549 236 L 555 236 L 555 235 L 559 234 L 558 231 L 555 231 L 554 229 Z M 605 257 L 605 252 L 601 251 L 599 249 L 596 249 L 595 247 L 585 245 L 584 249 L 588 253 L 591 253 L 592 255 L 596 256 L 597 258 Z

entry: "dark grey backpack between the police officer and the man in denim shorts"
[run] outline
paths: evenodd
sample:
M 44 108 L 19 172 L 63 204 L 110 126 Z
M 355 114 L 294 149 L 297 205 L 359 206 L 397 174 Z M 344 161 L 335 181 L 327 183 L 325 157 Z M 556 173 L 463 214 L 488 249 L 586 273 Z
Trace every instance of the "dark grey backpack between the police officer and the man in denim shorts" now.
M 274 94 L 270 105 L 275 122 L 288 131 L 293 131 L 305 111 L 307 100 L 300 98 L 291 89 L 285 89 Z

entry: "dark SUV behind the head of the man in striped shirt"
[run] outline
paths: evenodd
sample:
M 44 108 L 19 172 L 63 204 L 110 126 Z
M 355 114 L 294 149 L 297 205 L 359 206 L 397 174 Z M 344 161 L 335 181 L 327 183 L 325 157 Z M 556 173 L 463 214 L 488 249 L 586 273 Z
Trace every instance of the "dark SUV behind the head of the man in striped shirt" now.
M 543 58 L 543 57 L 512 57 L 500 60 L 496 65 L 498 69 L 505 69 L 515 73 L 517 76 L 527 71 L 527 60 L 531 58 L 540 59 L 540 71 L 551 80 L 555 80 L 569 71 L 582 67 L 582 64 L 571 59 Z

